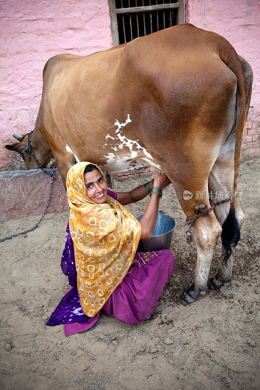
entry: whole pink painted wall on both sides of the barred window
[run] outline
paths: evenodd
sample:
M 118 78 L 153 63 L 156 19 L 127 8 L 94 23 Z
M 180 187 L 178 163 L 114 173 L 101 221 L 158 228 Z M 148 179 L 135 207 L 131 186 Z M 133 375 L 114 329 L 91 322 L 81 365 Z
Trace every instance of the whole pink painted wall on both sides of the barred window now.
M 186 21 L 228 39 L 254 71 L 242 155 L 259 153 L 260 63 L 257 0 L 186 0 Z M 42 69 L 59 53 L 87 55 L 112 46 L 107 0 L 1 0 L 0 169 L 12 166 L 4 148 L 12 133 L 34 128 Z

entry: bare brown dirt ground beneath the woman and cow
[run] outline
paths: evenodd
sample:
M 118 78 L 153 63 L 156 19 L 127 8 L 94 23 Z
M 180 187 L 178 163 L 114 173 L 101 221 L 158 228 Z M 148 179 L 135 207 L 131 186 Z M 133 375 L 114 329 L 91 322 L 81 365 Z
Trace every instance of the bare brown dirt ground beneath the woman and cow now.
M 47 215 L 36 231 L 0 244 L 1 383 L 3 390 L 257 390 L 259 306 L 259 164 L 241 164 L 239 192 L 246 220 L 233 281 L 193 304 L 180 293 L 192 283 L 195 244 L 187 244 L 184 214 L 172 185 L 160 209 L 176 220 L 175 269 L 151 318 L 130 326 L 100 315 L 89 331 L 64 336 L 45 323 L 69 288 L 60 270 L 67 214 Z M 146 181 L 116 183 L 127 191 Z M 142 214 L 147 199 L 128 206 Z M 0 225 L 1 237 L 33 226 L 38 217 Z M 216 273 L 220 243 L 212 262 Z

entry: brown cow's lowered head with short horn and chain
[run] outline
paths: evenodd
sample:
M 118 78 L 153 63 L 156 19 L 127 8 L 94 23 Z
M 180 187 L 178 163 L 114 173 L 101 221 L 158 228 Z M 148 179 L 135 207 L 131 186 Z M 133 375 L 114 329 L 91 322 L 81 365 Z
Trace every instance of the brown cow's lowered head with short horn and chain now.
M 31 138 L 31 148 L 42 165 L 43 168 L 51 168 L 53 162 L 54 162 L 54 156 L 52 153 L 51 148 L 49 145 L 45 142 L 43 137 L 39 134 L 40 132 L 34 131 Z M 28 135 L 29 133 L 24 134 L 23 136 L 17 136 L 16 134 L 13 134 L 13 137 L 16 138 L 19 142 L 15 142 L 11 145 L 5 145 L 6 149 L 13 150 L 14 152 L 20 153 L 21 157 L 23 158 L 27 169 L 37 169 L 39 168 L 37 162 L 34 160 L 33 156 L 31 156 L 30 161 L 28 161 Z

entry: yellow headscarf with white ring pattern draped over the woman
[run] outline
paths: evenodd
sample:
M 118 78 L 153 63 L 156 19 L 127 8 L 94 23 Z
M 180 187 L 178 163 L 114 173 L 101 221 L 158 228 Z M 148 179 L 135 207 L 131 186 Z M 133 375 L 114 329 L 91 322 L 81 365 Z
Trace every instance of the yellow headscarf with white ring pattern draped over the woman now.
M 94 317 L 131 266 L 141 226 L 110 196 L 102 204 L 88 198 L 84 169 L 89 164 L 75 164 L 68 172 L 66 185 L 80 304 L 87 316 Z

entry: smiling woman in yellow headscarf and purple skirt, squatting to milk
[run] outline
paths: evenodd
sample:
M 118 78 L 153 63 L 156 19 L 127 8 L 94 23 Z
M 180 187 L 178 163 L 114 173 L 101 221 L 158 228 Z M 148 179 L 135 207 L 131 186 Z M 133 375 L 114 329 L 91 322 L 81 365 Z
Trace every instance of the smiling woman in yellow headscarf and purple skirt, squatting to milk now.
M 65 335 L 91 328 L 100 310 L 128 324 L 150 316 L 173 271 L 170 251 L 136 253 L 140 239 L 156 225 L 161 188 L 169 179 L 158 173 L 129 193 L 107 189 L 97 165 L 80 162 L 67 175 L 70 206 L 61 268 L 74 286 L 46 325 L 64 324 Z M 140 220 L 123 207 L 151 198 Z M 72 241 L 73 240 L 73 241 Z

